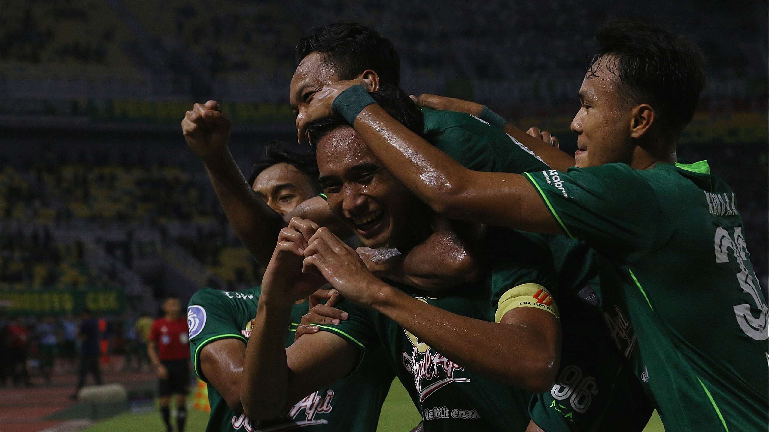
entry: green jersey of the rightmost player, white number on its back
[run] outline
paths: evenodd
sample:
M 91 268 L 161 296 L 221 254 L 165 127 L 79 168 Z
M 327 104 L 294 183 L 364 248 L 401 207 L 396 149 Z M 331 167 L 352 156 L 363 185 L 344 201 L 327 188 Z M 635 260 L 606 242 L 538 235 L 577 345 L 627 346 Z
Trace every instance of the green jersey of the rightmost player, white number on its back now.
M 526 176 L 598 251 L 604 319 L 665 428 L 767 430 L 769 309 L 734 192 L 707 161 Z

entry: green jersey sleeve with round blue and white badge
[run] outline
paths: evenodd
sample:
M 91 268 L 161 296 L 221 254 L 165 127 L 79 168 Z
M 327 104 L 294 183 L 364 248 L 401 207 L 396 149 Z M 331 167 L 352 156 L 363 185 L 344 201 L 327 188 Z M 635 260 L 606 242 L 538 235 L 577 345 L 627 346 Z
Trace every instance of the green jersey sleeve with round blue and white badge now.
M 187 327 L 190 337 L 190 357 L 198 378 L 206 381 L 201 371 L 200 353 L 203 347 L 219 339 L 240 339 L 248 343 L 241 334 L 238 313 L 230 299 L 222 291 L 204 288 L 196 292 L 187 307 Z

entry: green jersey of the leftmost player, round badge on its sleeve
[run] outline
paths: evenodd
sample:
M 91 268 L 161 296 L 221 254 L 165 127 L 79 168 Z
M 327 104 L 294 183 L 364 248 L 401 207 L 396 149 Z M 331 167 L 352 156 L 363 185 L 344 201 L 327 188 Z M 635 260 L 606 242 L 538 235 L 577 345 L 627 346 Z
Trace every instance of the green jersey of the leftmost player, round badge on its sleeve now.
M 187 308 L 187 323 L 192 364 L 195 374 L 201 380 L 206 381 L 200 367 L 201 349 L 213 341 L 225 338 L 247 343 L 260 293 L 261 287 L 241 291 L 205 288 L 192 296 Z M 294 342 L 296 327 L 301 316 L 307 312 L 306 301 L 291 309 L 291 328 L 286 329 L 286 347 Z M 231 410 L 216 388 L 208 384 L 211 416 L 206 430 L 256 432 L 301 428 L 318 431 L 375 431 L 381 405 L 394 378 L 390 364 L 383 357 L 381 350 L 372 347 L 354 374 L 308 395 L 283 417 L 275 420 L 251 422 L 245 414 Z

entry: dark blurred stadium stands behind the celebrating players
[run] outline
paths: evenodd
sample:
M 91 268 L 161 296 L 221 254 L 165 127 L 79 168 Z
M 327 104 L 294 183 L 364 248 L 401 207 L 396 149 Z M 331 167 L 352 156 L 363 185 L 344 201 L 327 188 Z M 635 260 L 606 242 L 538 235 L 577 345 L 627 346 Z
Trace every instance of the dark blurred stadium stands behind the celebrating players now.
M 118 289 L 138 313 L 155 312 L 165 292 L 257 283 L 259 269 L 228 228 L 179 123 L 193 102 L 220 101 L 235 120 L 231 149 L 246 173 L 266 142 L 295 141 L 293 49 L 314 25 L 371 25 L 398 49 L 407 91 L 482 102 L 523 128 L 553 131 L 573 151 L 569 123 L 592 38 L 616 17 L 665 25 L 703 49 L 708 84 L 679 156 L 707 158 L 737 192 L 751 260 L 769 283 L 765 2 L 0 6 L 2 292 Z M 73 311 L 35 307 L 25 313 Z

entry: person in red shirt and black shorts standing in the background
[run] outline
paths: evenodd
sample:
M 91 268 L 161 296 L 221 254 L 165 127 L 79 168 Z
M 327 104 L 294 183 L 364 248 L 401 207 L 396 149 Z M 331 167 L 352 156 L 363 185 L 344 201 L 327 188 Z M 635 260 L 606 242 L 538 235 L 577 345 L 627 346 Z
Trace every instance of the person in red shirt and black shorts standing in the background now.
M 155 320 L 150 331 L 147 354 L 158 373 L 160 414 L 165 429 L 171 428 L 171 395 L 176 395 L 176 427 L 185 430 L 189 393 L 189 337 L 181 314 L 179 297 L 171 294 L 163 301 L 164 316 Z

